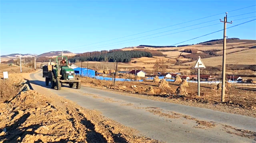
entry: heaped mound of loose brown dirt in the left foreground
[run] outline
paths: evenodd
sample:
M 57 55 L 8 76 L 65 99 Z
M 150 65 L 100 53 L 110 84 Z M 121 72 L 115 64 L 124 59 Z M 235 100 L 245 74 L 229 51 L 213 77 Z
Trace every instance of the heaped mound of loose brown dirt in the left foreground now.
M 0 143 L 158 143 L 55 94 L 29 90 L 0 103 Z

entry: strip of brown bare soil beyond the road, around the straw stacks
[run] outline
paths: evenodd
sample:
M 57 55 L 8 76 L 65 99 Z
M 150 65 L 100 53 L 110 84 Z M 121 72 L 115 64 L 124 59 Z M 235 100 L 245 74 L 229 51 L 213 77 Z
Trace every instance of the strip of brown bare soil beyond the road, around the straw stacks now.
M 183 86 L 187 95 L 177 95 L 175 91 L 180 86 L 178 83 L 168 82 L 170 88 L 160 88 L 153 81 L 143 82 L 119 82 L 112 86 L 112 81 L 82 78 L 84 86 L 100 89 L 118 90 L 118 94 L 136 96 L 156 101 L 164 101 L 175 104 L 184 104 L 195 107 L 213 109 L 239 115 L 256 118 L 256 90 L 248 87 L 229 87 L 226 91 L 225 101 L 221 102 L 221 94 L 216 90 L 216 85 L 201 84 L 201 96 L 197 96 L 197 84 L 188 83 Z M 125 93 L 123 93 L 125 91 Z M 132 94 L 129 94 L 132 93 Z M 136 94 L 134 94 L 136 93 Z

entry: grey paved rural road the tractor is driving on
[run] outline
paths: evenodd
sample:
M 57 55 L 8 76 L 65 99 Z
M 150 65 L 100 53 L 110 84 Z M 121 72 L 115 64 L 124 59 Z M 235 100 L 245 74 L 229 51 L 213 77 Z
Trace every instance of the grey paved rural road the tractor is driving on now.
M 75 101 L 81 107 L 96 109 L 108 118 L 125 126 L 137 129 L 142 135 L 167 143 L 255 143 L 256 140 L 240 137 L 223 131 L 222 125 L 198 129 L 197 123 L 185 118 L 164 118 L 148 112 L 145 107 L 157 107 L 162 112 L 176 112 L 190 115 L 204 121 L 214 121 L 238 129 L 256 132 L 256 118 L 218 112 L 210 109 L 189 107 L 160 101 L 152 101 L 132 96 L 114 94 L 105 90 L 81 87 L 80 90 L 62 87 L 61 90 L 45 86 L 42 70 L 30 74 L 34 86 L 44 88 L 59 96 Z M 35 88 L 35 90 L 37 90 Z M 111 99 L 109 99 L 111 98 Z M 129 106 L 128 106 L 129 105 Z M 149 108 L 154 109 L 154 108 Z

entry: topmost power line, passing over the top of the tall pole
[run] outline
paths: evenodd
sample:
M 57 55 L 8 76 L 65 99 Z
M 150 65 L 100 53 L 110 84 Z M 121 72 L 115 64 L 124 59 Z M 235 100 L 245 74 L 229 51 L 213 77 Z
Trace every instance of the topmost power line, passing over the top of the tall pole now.
M 253 6 L 256 6 L 256 5 L 253 5 Z M 247 7 L 244 7 L 244 8 L 239 8 L 239 9 L 235 9 L 235 10 L 227 11 L 227 12 L 238 11 L 238 10 L 245 9 L 245 8 L 250 8 L 250 7 L 253 7 L 253 6 L 247 6 Z M 214 15 L 211 15 L 211 16 L 208 16 L 208 17 L 203 17 L 203 18 L 199 18 L 199 19 L 195 19 L 195 20 L 190 20 L 190 21 L 187 21 L 187 22 L 181 22 L 181 23 L 178 23 L 178 24 L 175 24 L 175 25 L 180 25 L 180 24 L 184 24 L 184 23 L 188 23 L 188 22 L 193 22 L 193 21 L 196 21 L 196 20 L 202 20 L 202 19 L 205 19 L 205 18 L 209 18 L 209 17 L 220 15 L 220 14 L 223 14 L 223 13 L 214 14 Z M 172 27 L 172 26 L 175 26 L 175 25 L 169 25 L 169 26 L 166 26 L 166 27 L 157 28 L 157 29 L 154 29 L 154 30 L 145 31 L 145 32 L 137 33 L 137 34 L 128 35 L 128 36 L 123 36 L 123 37 L 119 37 L 119 38 L 115 38 L 115 39 L 110 39 L 110 40 L 106 40 L 106 41 L 102 41 L 102 42 L 113 41 L 113 40 L 116 40 L 116 39 L 121 39 L 121 38 L 129 37 L 129 36 L 143 34 L 143 33 L 151 32 L 151 31 L 156 31 L 156 30 L 160 30 L 160 29 L 163 29 L 163 28 Z M 96 42 L 96 43 L 91 43 L 91 44 L 87 44 L 87 45 L 93 45 L 93 44 L 98 44 L 98 43 L 102 43 L 102 42 Z M 81 46 L 76 46 L 76 47 L 72 47 L 72 48 L 83 47 L 83 46 L 87 46 L 87 45 L 81 45 Z

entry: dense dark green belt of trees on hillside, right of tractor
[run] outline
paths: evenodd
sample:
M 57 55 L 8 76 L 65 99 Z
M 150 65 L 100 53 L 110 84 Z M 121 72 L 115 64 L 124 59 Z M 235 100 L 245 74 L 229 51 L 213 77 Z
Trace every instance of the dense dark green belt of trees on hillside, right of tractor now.
M 70 62 L 84 62 L 84 61 L 96 61 L 96 62 L 131 62 L 132 58 L 152 57 L 152 54 L 140 50 L 131 51 L 116 51 L 111 53 L 105 53 L 98 56 L 74 56 L 70 58 Z

